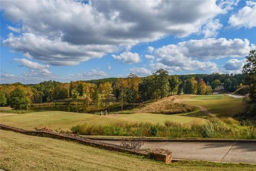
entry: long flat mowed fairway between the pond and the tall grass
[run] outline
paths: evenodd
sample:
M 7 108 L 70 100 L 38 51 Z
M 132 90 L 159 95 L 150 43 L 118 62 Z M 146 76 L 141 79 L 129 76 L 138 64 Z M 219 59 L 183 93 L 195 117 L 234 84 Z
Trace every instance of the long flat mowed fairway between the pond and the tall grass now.
M 185 115 L 182 113 L 182 115 Z M 86 113 L 43 111 L 23 113 L 19 115 L 0 115 L 0 123 L 23 129 L 47 127 L 51 129 L 69 130 L 78 124 L 122 124 L 127 122 L 149 122 L 163 124 L 166 120 L 179 123 L 197 122 L 203 123 L 205 119 L 177 115 L 161 115 L 152 113 L 133 113 L 129 115 L 99 116 Z

